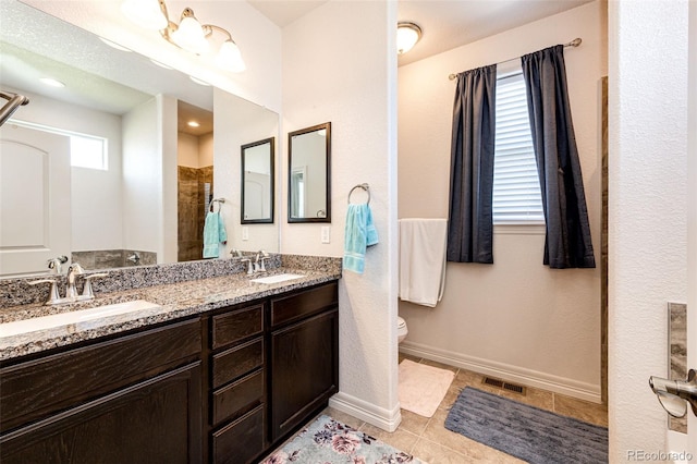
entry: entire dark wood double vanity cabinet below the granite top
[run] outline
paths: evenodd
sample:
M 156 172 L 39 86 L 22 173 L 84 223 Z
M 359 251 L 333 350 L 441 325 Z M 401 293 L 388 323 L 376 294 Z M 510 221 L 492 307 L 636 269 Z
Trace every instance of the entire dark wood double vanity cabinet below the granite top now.
M 0 462 L 258 462 L 339 386 L 331 282 L 0 363 Z

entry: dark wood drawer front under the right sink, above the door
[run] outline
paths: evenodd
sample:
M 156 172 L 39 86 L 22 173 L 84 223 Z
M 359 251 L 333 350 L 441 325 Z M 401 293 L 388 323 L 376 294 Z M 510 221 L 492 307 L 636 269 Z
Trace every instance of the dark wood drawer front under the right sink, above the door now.
M 271 300 L 271 327 L 310 316 L 339 304 L 337 282 L 306 290 L 282 298 Z

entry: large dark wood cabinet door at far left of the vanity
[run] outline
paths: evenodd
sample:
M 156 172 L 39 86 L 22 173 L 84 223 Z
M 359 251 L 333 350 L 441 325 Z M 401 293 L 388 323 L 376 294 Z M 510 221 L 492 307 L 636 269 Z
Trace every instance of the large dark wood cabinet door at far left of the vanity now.
M 17 429 L 3 464 L 201 462 L 200 363 Z

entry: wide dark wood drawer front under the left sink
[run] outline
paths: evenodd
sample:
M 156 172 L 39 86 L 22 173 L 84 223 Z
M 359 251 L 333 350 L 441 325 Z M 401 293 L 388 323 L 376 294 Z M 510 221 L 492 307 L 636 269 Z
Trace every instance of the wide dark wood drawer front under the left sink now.
M 199 359 L 200 349 L 200 322 L 195 319 L 4 367 L 0 429 L 38 420 Z

